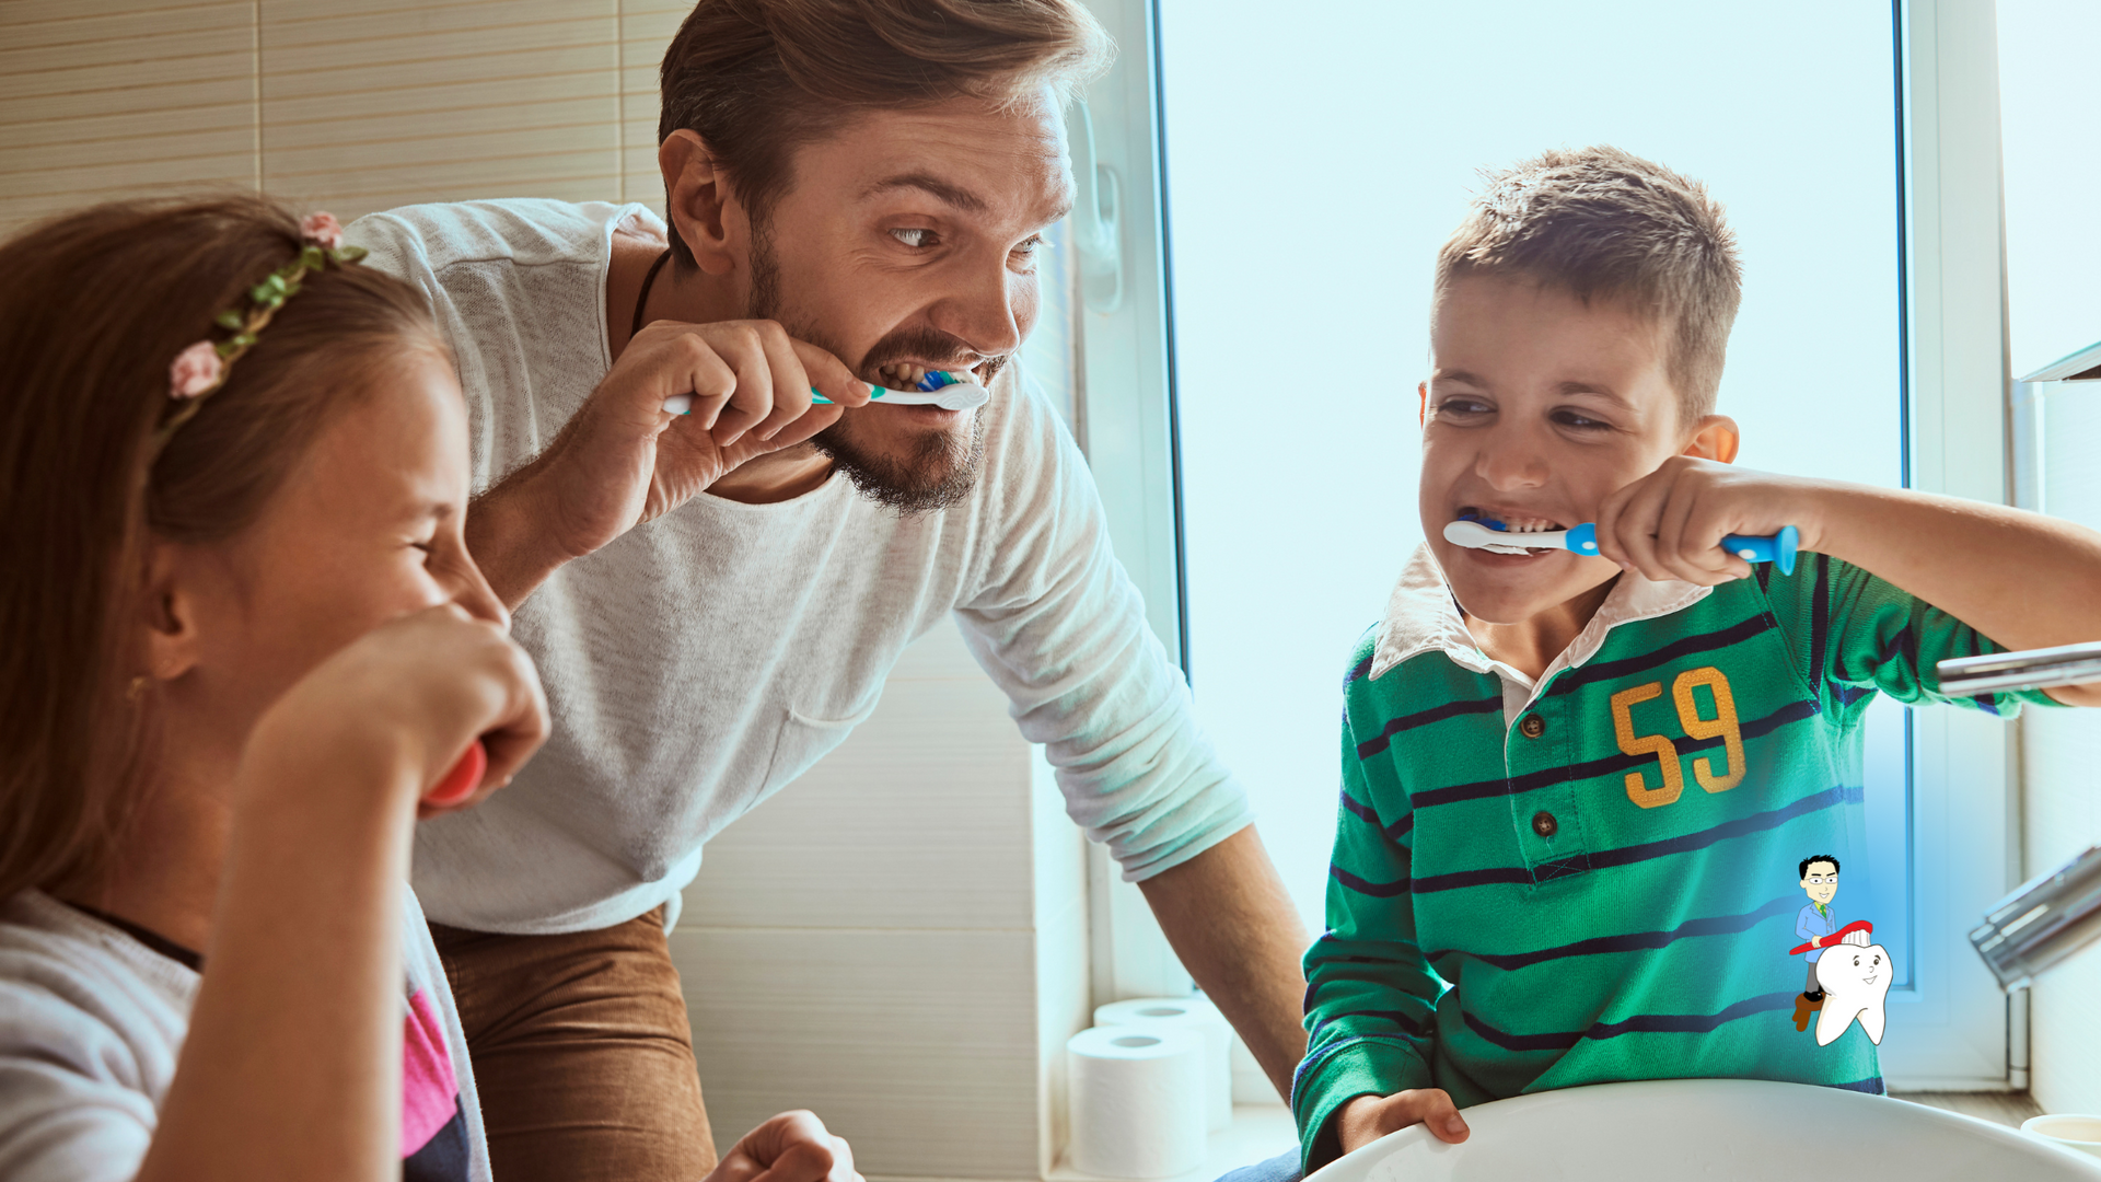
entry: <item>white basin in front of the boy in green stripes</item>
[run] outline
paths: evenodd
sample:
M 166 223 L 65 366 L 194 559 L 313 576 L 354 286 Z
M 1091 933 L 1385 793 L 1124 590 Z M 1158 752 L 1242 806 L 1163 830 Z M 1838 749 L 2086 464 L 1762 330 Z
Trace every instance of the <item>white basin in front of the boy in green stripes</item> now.
M 1477 1104 L 1473 1136 L 1385 1136 L 1307 1182 L 2097 1182 L 2090 1159 L 2004 1125 L 1761 1079 L 1599 1083 Z

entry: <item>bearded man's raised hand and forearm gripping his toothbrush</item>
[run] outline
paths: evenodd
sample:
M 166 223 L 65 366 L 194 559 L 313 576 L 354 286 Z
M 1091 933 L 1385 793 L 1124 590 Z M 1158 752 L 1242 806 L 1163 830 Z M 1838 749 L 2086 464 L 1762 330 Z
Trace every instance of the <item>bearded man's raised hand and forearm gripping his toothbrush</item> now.
M 811 402 L 811 387 L 834 406 Z M 872 387 L 771 320 L 658 322 L 523 469 L 475 498 L 466 545 L 506 606 L 561 564 L 824 431 Z M 664 400 L 691 395 L 691 414 Z

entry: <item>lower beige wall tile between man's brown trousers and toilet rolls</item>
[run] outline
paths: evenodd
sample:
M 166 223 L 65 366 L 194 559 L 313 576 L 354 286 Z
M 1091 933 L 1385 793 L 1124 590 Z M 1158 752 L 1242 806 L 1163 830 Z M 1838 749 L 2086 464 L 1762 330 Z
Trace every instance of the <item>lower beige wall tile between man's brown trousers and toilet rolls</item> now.
M 813 1108 L 864 1174 L 1036 1178 L 1025 932 L 672 934 L 721 1146 Z

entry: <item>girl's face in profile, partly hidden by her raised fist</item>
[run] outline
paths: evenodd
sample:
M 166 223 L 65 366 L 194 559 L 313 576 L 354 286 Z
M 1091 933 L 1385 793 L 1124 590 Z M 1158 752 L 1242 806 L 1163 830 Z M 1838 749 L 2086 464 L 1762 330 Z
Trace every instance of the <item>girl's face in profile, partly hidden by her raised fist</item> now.
M 370 381 L 252 526 L 166 551 L 176 618 L 164 627 L 187 625 L 189 658 L 158 675 L 170 705 L 235 742 L 307 671 L 393 616 L 450 602 L 508 625 L 460 532 L 466 402 L 452 366 L 405 349 Z

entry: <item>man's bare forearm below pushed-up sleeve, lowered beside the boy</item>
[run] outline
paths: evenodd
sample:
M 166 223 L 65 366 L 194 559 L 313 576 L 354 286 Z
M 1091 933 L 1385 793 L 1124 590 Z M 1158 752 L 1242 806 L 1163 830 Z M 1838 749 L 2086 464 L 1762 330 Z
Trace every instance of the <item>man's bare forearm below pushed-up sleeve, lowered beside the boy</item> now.
M 1160 871 L 1139 890 L 1183 967 L 1290 1102 L 1292 1073 L 1307 1054 L 1298 957 L 1311 940 L 1254 827 Z

